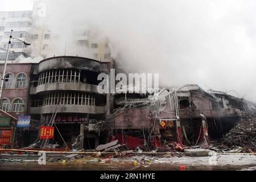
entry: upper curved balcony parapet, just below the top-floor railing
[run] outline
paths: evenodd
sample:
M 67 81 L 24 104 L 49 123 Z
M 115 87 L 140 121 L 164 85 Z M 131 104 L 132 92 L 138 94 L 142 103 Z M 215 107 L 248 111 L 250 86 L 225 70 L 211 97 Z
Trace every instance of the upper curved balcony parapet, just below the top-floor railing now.
M 30 94 L 38 94 L 53 90 L 76 90 L 84 92 L 98 93 L 97 85 L 82 84 L 82 83 L 70 83 L 70 82 L 57 82 L 38 85 L 34 88 L 30 88 Z

